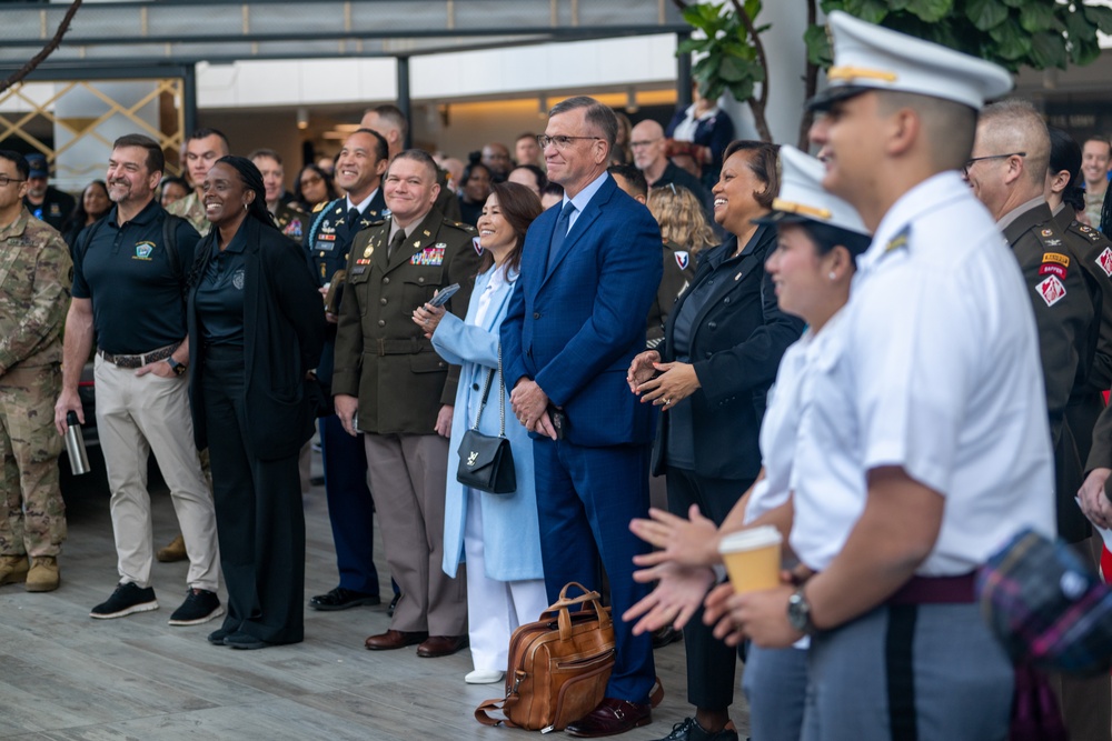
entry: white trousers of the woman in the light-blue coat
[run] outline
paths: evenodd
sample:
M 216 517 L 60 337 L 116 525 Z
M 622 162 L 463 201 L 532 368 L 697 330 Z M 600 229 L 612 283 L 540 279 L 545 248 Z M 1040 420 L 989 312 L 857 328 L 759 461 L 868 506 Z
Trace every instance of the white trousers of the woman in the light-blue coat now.
M 479 671 L 506 671 L 509 637 L 522 623 L 534 622 L 548 607 L 544 579 L 497 581 L 486 575 L 483 557 L 480 491 L 467 495 L 464 557 L 467 561 L 467 637 L 471 663 Z

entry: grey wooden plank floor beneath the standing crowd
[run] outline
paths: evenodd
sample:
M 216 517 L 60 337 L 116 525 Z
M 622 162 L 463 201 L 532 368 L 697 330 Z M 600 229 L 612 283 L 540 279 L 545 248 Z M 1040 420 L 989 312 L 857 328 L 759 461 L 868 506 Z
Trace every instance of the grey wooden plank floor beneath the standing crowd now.
M 315 457 L 319 469 L 319 457 Z M 29 594 L 0 588 L 0 739 L 160 741 L 171 739 L 480 739 L 537 738 L 479 725 L 471 712 L 502 694 L 500 684 L 469 685 L 470 655 L 419 659 L 414 649 L 370 652 L 364 638 L 388 628 L 386 608 L 306 610 L 306 640 L 261 651 L 210 645 L 219 623 L 167 624 L 185 597 L 185 563 L 156 563 L 161 608 L 118 620 L 92 620 L 89 609 L 116 584 L 108 494 L 101 481 L 68 494 L 69 540 L 60 559 L 62 585 Z M 157 544 L 177 532 L 169 497 L 153 497 Z M 336 584 L 324 489 L 305 497 L 308 535 L 306 594 Z M 380 539 L 376 539 L 379 545 Z M 389 574 L 379 548 L 383 593 Z M 691 714 L 684 648 L 656 652 L 666 697 L 655 722 L 622 737 L 661 739 Z M 734 721 L 747 730 L 735 692 Z

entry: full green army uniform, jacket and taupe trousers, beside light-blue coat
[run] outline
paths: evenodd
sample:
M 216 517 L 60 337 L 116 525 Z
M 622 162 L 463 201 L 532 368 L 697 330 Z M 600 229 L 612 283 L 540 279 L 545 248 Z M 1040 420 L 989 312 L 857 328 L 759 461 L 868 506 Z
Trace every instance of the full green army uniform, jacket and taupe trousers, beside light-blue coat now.
M 435 207 L 388 256 L 391 227 L 391 219 L 376 222 L 351 244 L 332 392 L 359 399 L 375 512 L 404 595 L 390 629 L 458 638 L 467 632 L 467 595 L 465 581 L 441 568 L 448 440 L 435 428 L 440 408 L 455 403 L 459 368 L 449 369 L 413 313 L 437 289 L 459 283 L 447 310 L 465 317 L 479 256 L 475 230 Z

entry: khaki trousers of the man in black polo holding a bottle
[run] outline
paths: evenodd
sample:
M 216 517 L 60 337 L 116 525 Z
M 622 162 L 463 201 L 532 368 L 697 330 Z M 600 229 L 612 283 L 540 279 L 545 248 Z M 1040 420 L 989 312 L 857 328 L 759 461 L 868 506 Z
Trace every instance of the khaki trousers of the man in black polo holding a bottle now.
M 153 451 L 170 488 L 189 554 L 189 587 L 217 591 L 219 548 L 212 492 L 205 481 L 189 413 L 189 375 L 137 377 L 97 357 L 97 427 L 112 491 L 120 581 L 150 587 L 153 528 L 147 459 Z

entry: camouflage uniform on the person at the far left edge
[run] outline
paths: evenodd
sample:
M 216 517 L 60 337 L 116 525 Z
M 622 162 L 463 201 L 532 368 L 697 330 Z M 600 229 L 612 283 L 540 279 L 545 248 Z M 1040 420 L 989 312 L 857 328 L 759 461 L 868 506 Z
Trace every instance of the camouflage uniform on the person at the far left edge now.
M 26 207 L 0 229 L 0 555 L 57 555 L 66 539 L 53 418 L 72 278 L 61 234 Z

